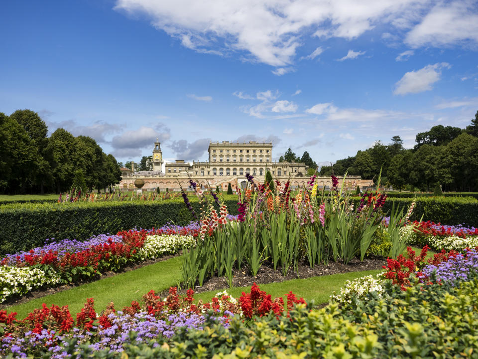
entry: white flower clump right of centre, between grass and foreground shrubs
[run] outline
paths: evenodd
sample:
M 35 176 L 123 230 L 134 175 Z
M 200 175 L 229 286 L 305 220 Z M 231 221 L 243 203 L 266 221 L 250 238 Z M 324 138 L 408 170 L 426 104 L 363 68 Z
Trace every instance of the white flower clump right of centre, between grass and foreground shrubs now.
M 381 273 L 376 276 L 367 275 L 364 277 L 356 278 L 352 281 L 346 280 L 345 287 L 342 287 L 339 293 L 334 292 L 330 296 L 331 301 L 335 301 L 340 305 L 346 305 L 352 303 L 352 296 L 357 295 L 359 299 L 365 297 L 368 292 L 377 292 L 381 297 L 383 293 L 383 275 Z

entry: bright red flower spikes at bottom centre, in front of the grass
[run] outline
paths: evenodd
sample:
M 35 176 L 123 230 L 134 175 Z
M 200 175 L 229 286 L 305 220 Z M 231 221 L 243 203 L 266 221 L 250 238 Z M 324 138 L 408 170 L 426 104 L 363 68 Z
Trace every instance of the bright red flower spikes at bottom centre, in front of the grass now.
M 281 315 L 284 311 L 284 300 L 282 298 L 275 298 L 272 302 L 270 294 L 261 291 L 255 283 L 250 287 L 250 293 L 242 292 L 239 302 L 242 313 L 247 319 L 253 316 L 262 317 L 269 314 L 271 310 L 276 315 Z M 289 317 L 289 311 L 294 304 L 298 303 L 305 303 L 305 301 L 302 298 L 297 299 L 292 292 L 289 292 L 287 294 L 287 317 Z

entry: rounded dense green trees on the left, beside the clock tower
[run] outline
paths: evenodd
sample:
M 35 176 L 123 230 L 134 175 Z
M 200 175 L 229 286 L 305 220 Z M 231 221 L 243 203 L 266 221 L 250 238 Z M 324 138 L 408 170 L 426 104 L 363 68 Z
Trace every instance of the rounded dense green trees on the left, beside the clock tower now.
M 63 128 L 47 135 L 36 112 L 0 112 L 0 193 L 61 193 L 75 178 L 84 179 L 91 192 L 121 180 L 115 157 L 91 137 L 74 137 Z

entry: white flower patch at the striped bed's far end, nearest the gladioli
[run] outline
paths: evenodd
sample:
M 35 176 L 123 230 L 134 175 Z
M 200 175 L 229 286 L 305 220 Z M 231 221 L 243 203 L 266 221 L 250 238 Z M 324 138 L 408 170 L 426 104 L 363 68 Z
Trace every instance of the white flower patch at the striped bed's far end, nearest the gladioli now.
M 189 248 L 195 244 L 196 239 L 194 239 L 193 236 L 179 234 L 155 234 L 146 237 L 144 246 L 139 249 L 138 253 L 142 260 L 158 258 L 165 254 L 176 254 L 183 249 L 183 246 Z

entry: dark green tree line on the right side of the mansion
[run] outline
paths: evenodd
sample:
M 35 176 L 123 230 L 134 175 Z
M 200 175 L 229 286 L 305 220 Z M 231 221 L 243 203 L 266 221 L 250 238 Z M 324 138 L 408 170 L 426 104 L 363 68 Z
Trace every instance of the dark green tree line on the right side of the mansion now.
M 400 136 L 391 143 L 380 141 L 354 157 L 323 166 L 320 175 L 358 175 L 394 188 L 431 191 L 437 185 L 447 191 L 478 190 L 478 111 L 465 129 L 433 126 L 416 135 L 413 149 L 404 149 Z

